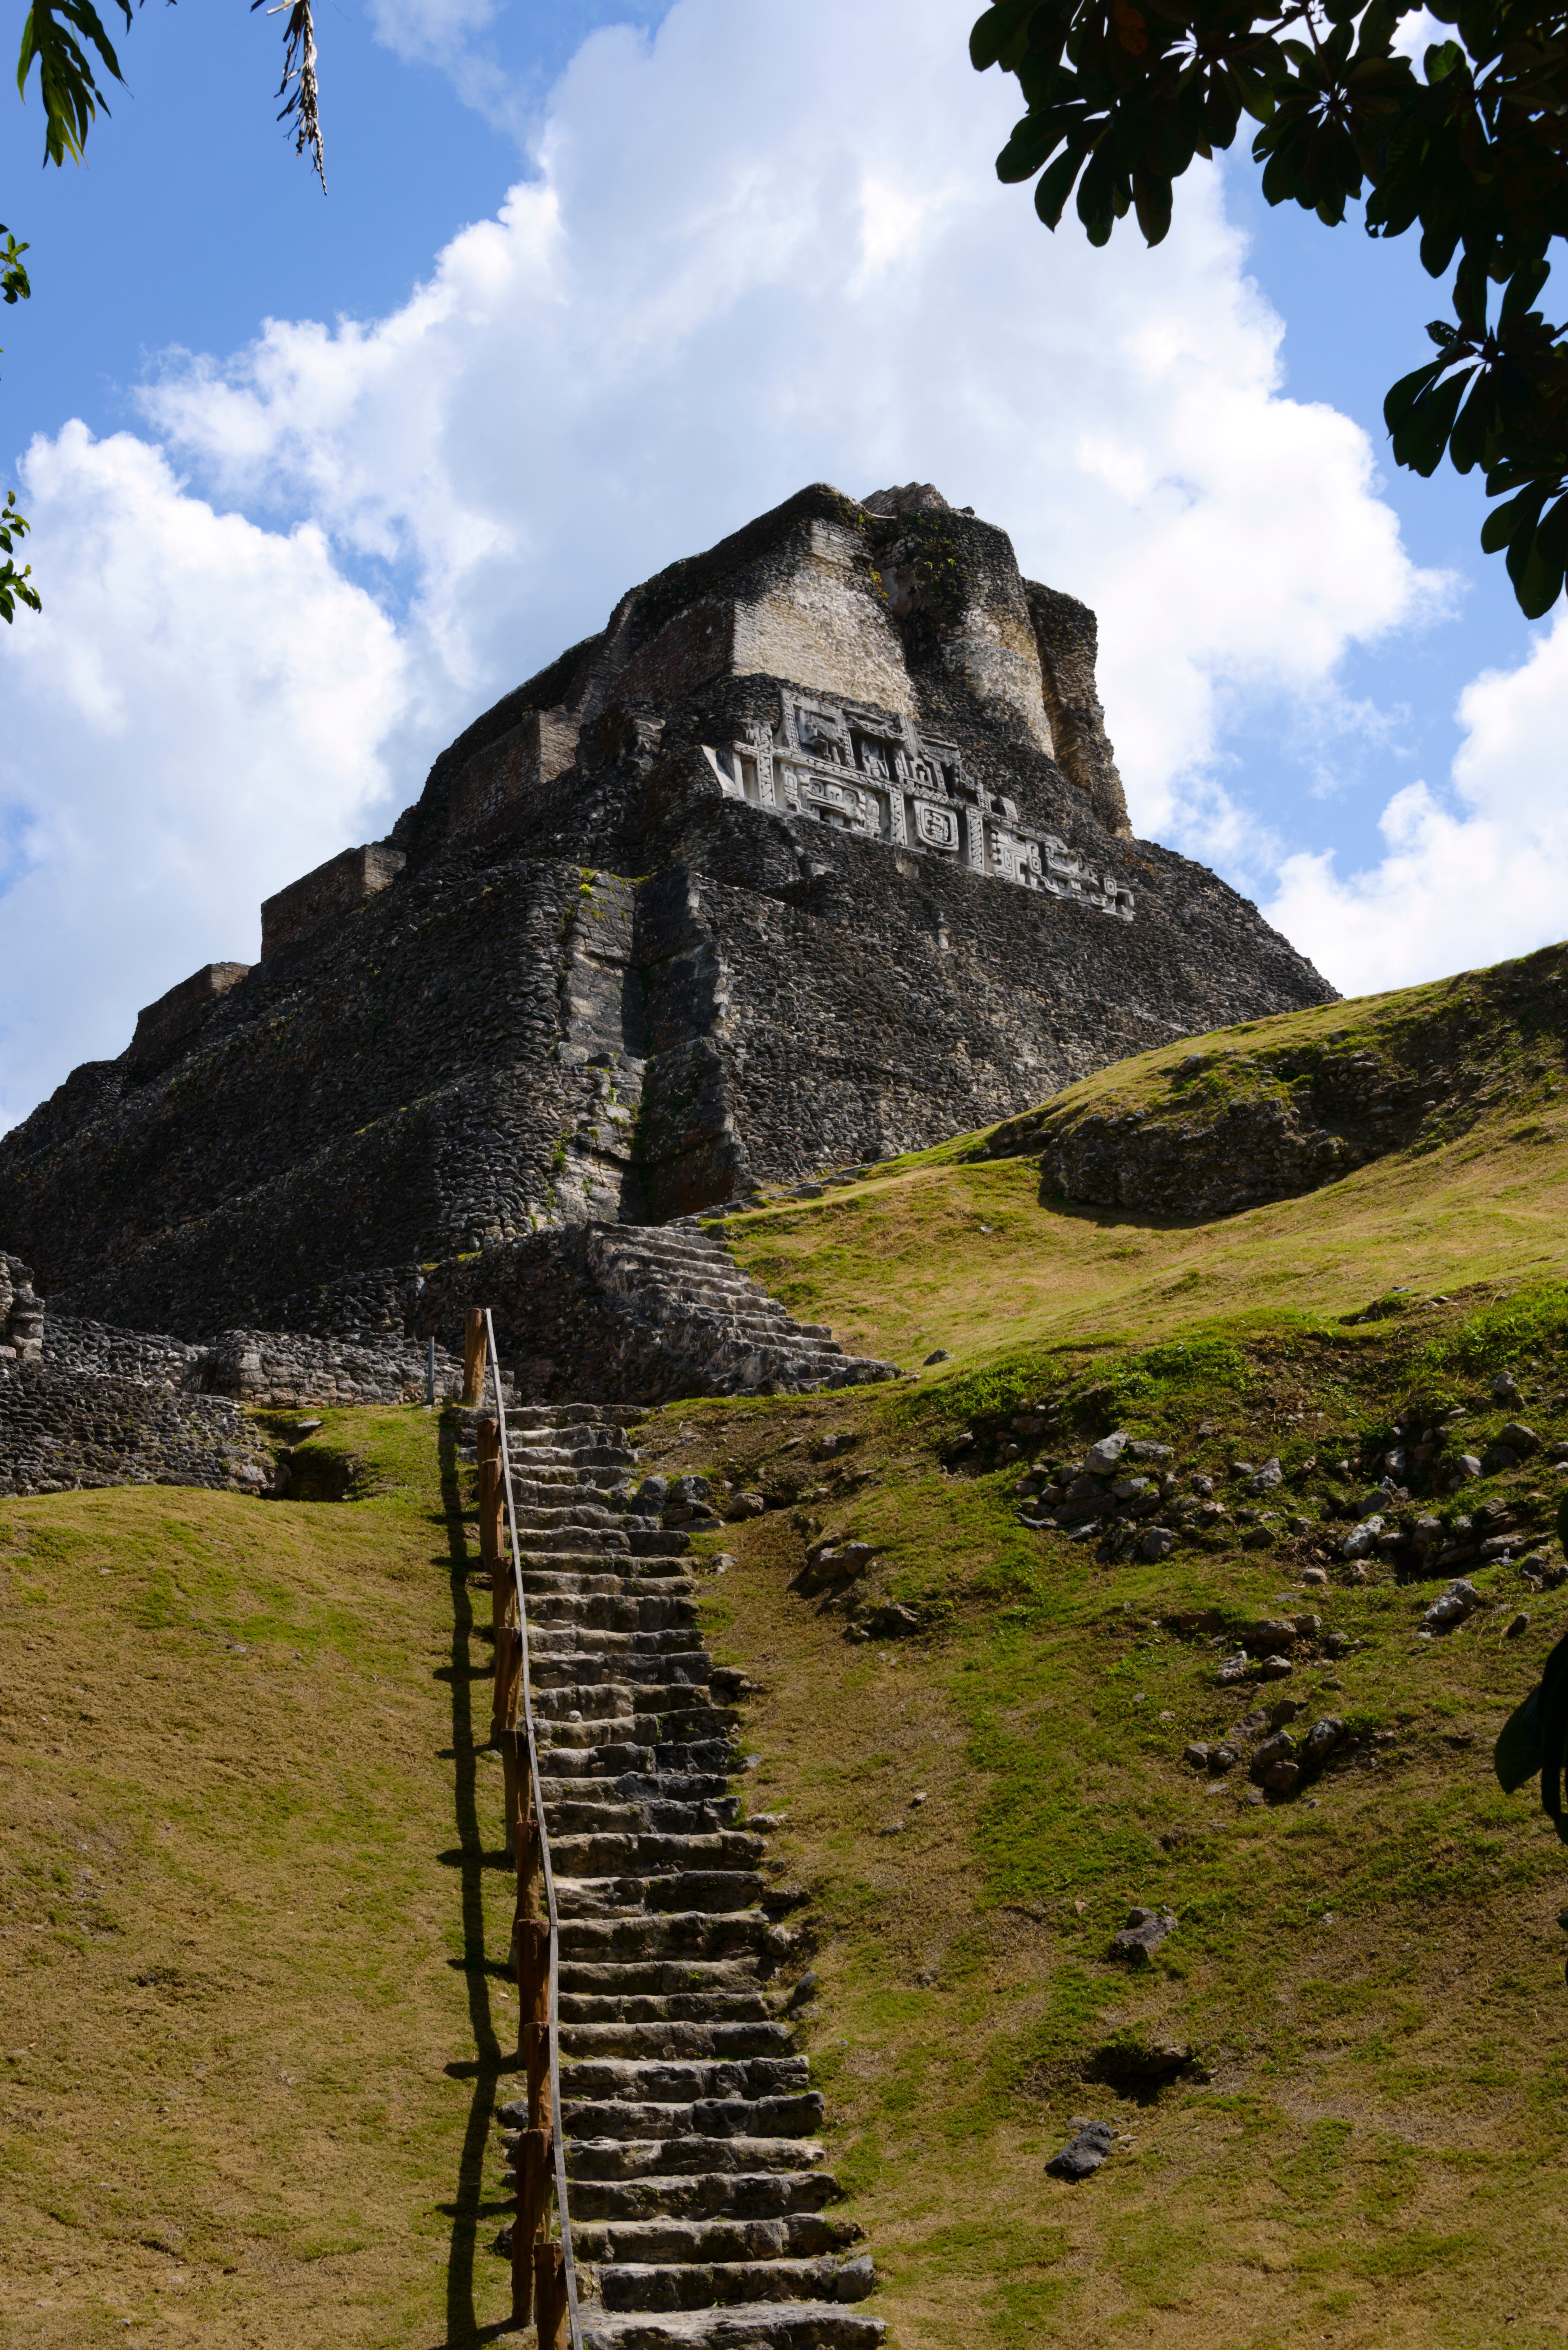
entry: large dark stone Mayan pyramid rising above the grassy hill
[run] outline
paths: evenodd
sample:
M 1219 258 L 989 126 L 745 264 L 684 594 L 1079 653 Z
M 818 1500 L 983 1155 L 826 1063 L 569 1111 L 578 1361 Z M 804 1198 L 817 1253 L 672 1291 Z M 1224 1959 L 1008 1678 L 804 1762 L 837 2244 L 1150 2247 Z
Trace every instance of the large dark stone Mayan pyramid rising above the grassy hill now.
M 1331 996 L 1133 837 L 1084 604 L 931 484 L 813 484 L 75 1069 L 0 1140 L 0 1234 L 75 1314 L 320 1321 L 369 1269 L 663 1224 Z

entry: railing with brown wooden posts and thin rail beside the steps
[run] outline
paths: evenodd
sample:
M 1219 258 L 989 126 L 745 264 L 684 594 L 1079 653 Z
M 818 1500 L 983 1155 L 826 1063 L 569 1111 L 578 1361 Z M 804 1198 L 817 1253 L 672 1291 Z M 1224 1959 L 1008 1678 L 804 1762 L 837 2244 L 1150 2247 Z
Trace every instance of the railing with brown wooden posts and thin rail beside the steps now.
M 512 1455 L 505 1431 L 496 1325 L 489 1307 L 473 1307 L 468 1314 L 463 1401 L 482 1403 L 487 1363 L 496 1415 L 494 1419 L 480 1419 L 480 1556 L 491 1570 L 491 1612 L 496 1626 L 494 1732 L 505 1762 L 505 1826 L 517 1861 L 512 1962 L 517 1967 L 520 2056 L 529 2092 L 529 2127 L 520 2136 L 515 2157 L 512 2322 L 529 2324 L 529 2317 L 534 2319 L 538 2326 L 538 2350 L 583 2350 L 576 2261 L 571 2258 L 571 2214 L 567 2209 L 567 2143 L 559 2127 L 559 1915 L 555 1908 L 550 1831 L 538 1784 L 538 1739 L 534 1734 L 534 1685 L 529 1676 L 529 1605 L 522 1589 L 522 1544 L 517 1539 L 517 1502 L 512 1495 Z M 503 1518 L 512 1553 L 510 1591 L 501 1560 Z M 557 2237 L 550 2237 L 552 2186 Z

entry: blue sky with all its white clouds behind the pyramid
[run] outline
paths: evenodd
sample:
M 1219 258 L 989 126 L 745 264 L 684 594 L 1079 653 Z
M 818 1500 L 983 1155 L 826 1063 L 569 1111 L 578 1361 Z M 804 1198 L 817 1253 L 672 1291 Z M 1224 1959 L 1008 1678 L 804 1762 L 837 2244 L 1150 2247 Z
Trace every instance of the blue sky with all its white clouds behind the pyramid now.
M 1246 162 L 1157 256 L 1051 240 L 994 188 L 1011 85 L 966 28 L 329 0 L 327 197 L 237 0 L 136 16 L 82 172 L 0 99 L 35 280 L 0 461 L 47 592 L 0 646 L 0 1119 L 254 954 L 259 898 L 621 588 L 816 475 L 931 477 L 1088 595 L 1143 830 L 1345 989 L 1568 928 L 1568 637 L 1479 555 L 1479 484 L 1387 461 L 1446 308 L 1413 244 L 1274 214 Z

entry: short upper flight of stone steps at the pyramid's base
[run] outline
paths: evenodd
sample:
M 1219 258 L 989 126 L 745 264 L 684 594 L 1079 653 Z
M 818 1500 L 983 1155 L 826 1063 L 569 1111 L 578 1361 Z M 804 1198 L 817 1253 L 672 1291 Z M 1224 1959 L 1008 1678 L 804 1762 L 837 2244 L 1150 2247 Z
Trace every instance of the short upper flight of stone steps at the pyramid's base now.
M 696 1224 L 597 1224 L 588 1257 L 599 1283 L 668 1332 L 701 1365 L 691 1394 L 811 1394 L 896 1379 L 896 1363 L 846 1354 L 825 1323 L 797 1323 Z

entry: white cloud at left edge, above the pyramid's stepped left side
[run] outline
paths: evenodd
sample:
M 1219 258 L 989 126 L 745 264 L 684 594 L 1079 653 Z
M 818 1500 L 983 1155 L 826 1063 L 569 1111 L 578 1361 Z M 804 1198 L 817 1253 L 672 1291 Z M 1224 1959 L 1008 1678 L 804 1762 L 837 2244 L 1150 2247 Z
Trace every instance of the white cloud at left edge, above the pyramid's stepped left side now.
M 47 599 L 5 646 L 5 1121 L 188 971 L 254 959 L 261 898 L 362 837 L 407 700 L 315 524 L 219 515 L 80 423 L 31 449 L 24 505 Z

